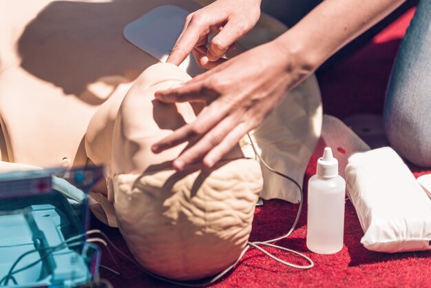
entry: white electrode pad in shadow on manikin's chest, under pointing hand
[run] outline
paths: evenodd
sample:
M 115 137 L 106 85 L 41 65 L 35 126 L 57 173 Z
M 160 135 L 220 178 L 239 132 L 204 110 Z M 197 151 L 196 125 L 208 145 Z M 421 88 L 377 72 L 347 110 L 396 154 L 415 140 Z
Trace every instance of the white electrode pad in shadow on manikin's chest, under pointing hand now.
M 190 14 L 189 11 L 178 6 L 159 6 L 127 24 L 123 35 L 140 50 L 158 61 L 165 62 L 180 36 L 188 14 Z M 192 54 L 189 54 L 179 67 L 190 76 L 196 76 L 205 71 L 199 68 Z

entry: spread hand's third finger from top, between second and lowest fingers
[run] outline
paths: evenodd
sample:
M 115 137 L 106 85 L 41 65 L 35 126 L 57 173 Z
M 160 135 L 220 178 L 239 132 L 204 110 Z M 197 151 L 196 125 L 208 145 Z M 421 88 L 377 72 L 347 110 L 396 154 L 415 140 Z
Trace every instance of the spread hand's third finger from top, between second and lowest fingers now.
M 220 123 L 215 125 L 207 134 L 193 146 L 186 149 L 174 161 L 173 165 L 176 169 L 182 170 L 188 165 L 200 161 L 210 150 L 219 145 L 229 132 L 233 130 L 235 125 L 240 122 L 240 114 L 231 114 L 224 118 Z

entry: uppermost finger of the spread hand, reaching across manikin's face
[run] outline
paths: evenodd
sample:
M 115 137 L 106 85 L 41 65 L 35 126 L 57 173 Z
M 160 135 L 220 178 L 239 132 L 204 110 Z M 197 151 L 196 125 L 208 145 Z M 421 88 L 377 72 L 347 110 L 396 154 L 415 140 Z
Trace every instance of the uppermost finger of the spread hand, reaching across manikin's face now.
M 204 81 L 185 83 L 178 88 L 157 91 L 154 97 L 165 103 L 210 101 L 218 96 L 218 93 L 204 85 Z

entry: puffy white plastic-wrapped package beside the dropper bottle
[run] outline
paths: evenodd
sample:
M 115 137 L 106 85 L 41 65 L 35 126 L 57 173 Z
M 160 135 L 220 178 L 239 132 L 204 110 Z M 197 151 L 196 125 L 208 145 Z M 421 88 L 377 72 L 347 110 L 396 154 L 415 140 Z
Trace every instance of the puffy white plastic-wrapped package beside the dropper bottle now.
M 394 150 L 383 147 L 351 156 L 345 177 L 367 249 L 431 249 L 431 200 Z

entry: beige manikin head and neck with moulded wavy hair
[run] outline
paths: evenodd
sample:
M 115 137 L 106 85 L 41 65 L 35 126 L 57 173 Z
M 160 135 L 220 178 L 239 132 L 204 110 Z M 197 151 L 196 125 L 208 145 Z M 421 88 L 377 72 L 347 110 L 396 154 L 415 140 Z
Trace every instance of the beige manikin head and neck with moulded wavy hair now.
M 170 163 L 184 146 L 151 152 L 158 138 L 195 118 L 189 103 L 160 103 L 154 92 L 189 79 L 176 65 L 152 65 L 124 99 L 112 97 L 99 108 L 85 141 L 89 158 L 107 165 L 107 198 L 135 258 L 180 280 L 211 276 L 238 258 L 262 189 L 259 164 L 238 146 L 211 169 L 184 172 Z

